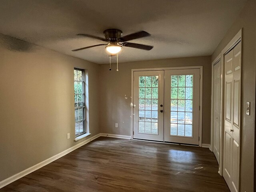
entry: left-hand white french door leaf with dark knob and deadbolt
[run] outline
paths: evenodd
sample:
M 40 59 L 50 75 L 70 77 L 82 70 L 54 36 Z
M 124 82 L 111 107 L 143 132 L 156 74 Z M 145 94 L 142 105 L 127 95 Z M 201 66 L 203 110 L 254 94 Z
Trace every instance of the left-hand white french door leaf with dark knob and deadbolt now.
M 164 141 L 164 70 L 134 72 L 134 138 Z

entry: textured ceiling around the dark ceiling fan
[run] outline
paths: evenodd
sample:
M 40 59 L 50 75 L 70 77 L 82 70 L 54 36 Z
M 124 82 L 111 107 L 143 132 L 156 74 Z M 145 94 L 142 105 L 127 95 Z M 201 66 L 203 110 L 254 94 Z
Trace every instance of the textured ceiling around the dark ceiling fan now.
M 78 37 L 100 37 L 108 28 L 123 36 L 145 30 L 152 36 L 130 42 L 153 45 L 150 51 L 124 47 L 119 62 L 211 55 L 246 0 L 1 0 L 0 33 L 104 64 L 104 46 Z M 104 42 L 103 42 L 104 43 Z

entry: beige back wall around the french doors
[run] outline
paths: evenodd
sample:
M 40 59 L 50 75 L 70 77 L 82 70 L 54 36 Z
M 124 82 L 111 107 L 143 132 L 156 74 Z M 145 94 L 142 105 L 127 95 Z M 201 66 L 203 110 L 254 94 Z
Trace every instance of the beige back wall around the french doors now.
M 121 57 L 122 55 L 120 55 Z M 108 134 L 130 135 L 131 132 L 131 70 L 136 68 L 160 68 L 179 66 L 203 66 L 203 128 L 202 143 L 210 144 L 211 112 L 211 57 L 174 58 L 100 65 L 100 128 Z M 118 128 L 115 128 L 118 123 Z

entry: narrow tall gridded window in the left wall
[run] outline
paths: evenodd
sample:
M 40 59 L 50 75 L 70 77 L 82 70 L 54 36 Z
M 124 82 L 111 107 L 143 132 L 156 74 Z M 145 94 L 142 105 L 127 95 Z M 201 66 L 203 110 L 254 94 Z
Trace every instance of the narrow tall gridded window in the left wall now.
M 84 70 L 74 68 L 75 97 L 75 134 L 76 137 L 85 133 L 85 93 Z

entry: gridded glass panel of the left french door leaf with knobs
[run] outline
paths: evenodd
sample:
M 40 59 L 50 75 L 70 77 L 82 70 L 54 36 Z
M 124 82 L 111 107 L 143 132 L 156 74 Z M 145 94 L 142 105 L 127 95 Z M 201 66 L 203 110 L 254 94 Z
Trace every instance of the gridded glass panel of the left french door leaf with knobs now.
M 139 77 L 138 133 L 158 134 L 158 76 Z

